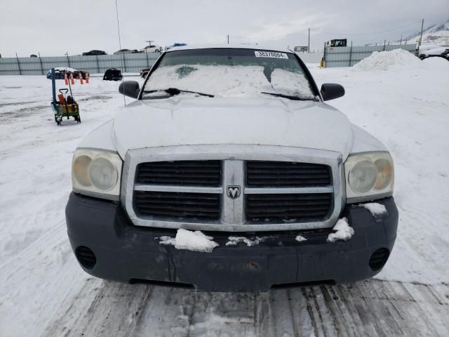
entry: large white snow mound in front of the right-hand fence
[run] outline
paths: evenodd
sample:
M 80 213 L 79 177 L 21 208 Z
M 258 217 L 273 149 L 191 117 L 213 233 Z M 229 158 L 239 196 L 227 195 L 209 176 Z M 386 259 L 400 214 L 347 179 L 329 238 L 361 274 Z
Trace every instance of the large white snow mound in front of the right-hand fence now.
M 353 69 L 356 71 L 389 70 L 391 67 L 420 67 L 422 61 L 409 51 L 394 49 L 394 51 L 375 51 L 364 58 Z

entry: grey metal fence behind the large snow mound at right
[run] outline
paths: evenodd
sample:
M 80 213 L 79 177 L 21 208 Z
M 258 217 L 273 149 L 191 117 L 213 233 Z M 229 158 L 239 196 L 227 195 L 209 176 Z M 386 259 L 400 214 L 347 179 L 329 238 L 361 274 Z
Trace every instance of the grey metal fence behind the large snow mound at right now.
M 363 58 L 368 58 L 374 51 L 392 51 L 404 49 L 415 52 L 416 44 L 390 44 L 387 46 L 347 46 L 347 47 L 325 47 L 324 55 L 326 67 L 352 67 Z

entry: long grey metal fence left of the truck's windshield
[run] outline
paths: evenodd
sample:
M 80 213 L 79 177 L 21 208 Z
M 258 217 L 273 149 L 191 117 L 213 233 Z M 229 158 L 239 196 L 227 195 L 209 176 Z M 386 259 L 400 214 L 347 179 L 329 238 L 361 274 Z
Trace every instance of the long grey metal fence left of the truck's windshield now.
M 143 68 L 151 67 L 160 55 L 160 53 L 135 53 L 0 58 L 0 75 L 43 75 L 52 67 L 71 67 L 91 74 L 103 74 L 109 68 L 117 68 L 122 72 L 140 72 Z

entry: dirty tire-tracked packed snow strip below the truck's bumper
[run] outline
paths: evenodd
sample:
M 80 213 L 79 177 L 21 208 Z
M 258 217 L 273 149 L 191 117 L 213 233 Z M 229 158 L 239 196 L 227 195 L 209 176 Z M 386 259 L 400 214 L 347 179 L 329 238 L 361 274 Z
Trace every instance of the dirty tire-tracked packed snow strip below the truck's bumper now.
M 89 279 L 42 336 L 448 336 L 448 291 L 372 279 L 197 293 Z

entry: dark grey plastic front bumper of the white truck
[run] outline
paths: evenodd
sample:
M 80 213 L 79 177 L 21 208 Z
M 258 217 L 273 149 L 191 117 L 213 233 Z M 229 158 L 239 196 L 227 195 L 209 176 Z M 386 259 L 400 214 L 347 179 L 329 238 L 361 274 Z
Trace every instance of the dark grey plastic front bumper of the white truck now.
M 66 219 L 74 251 L 86 246 L 96 263 L 83 270 L 120 282 L 147 280 L 194 286 L 199 291 L 267 291 L 271 286 L 309 282 L 355 282 L 377 274 L 368 265 L 377 249 L 394 246 L 398 211 L 393 197 L 376 201 L 388 211 L 374 218 L 362 207 L 346 206 L 354 228 L 347 242 L 326 242 L 332 230 L 259 232 L 270 236 L 257 246 L 225 246 L 229 235 L 255 233 L 208 232 L 220 244 L 212 253 L 177 250 L 159 244 L 158 237 L 175 237 L 175 230 L 134 226 L 120 204 L 72 193 Z M 297 242 L 301 234 L 307 241 Z

